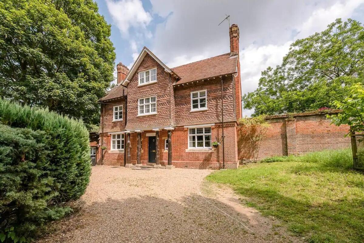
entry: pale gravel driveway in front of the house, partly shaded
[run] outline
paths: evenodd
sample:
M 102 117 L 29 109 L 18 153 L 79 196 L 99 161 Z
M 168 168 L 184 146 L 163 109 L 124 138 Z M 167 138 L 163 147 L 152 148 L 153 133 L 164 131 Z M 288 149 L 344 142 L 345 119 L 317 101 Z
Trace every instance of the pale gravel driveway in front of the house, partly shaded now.
M 95 166 L 80 210 L 39 242 L 296 241 L 257 212 L 231 204 L 226 190 L 216 193 L 203 182 L 209 173 Z

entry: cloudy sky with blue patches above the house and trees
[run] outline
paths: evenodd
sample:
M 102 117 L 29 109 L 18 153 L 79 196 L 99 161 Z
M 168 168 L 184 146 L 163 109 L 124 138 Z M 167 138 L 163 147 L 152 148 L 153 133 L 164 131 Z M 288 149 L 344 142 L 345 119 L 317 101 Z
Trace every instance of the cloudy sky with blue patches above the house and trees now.
M 229 52 L 229 27 L 240 29 L 242 92 L 281 63 L 296 39 L 323 31 L 337 18 L 364 22 L 364 0 L 96 0 L 111 24 L 116 63 L 131 66 L 147 46 L 167 66 Z M 245 110 L 250 115 L 252 111 Z

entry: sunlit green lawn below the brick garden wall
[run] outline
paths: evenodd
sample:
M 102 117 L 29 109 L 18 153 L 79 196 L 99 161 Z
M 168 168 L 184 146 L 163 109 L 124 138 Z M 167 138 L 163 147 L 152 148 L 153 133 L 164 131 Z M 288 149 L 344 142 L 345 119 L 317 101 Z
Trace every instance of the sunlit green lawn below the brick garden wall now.
M 322 151 L 273 157 L 207 179 L 231 185 L 248 206 L 310 242 L 363 242 L 364 175 L 351 165 L 350 150 Z

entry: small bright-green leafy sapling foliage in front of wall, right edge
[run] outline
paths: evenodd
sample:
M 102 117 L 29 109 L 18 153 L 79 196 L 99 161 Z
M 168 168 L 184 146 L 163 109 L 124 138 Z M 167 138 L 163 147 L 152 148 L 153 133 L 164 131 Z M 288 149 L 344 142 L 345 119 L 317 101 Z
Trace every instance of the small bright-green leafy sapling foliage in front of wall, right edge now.
M 360 83 L 352 85 L 350 96 L 344 100 L 335 101 L 337 109 L 342 110 L 339 114 L 328 116 L 332 123 L 340 126 L 347 124 L 354 131 L 364 130 L 364 86 Z

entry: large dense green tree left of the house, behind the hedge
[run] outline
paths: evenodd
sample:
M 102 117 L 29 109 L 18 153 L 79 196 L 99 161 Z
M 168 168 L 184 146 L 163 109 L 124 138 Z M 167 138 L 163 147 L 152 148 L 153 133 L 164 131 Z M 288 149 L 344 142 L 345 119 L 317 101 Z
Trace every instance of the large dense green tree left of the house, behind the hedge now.
M 97 124 L 110 34 L 92 0 L 0 0 L 0 97 Z

